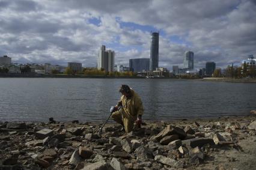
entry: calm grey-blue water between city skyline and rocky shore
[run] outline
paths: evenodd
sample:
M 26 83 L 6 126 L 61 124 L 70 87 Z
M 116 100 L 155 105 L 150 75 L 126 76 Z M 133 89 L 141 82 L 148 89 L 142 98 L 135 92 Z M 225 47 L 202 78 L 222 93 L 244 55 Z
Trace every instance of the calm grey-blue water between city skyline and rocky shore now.
M 172 79 L 0 78 L 0 121 L 102 121 L 120 99 L 121 84 L 144 103 L 144 120 L 247 115 L 255 83 Z

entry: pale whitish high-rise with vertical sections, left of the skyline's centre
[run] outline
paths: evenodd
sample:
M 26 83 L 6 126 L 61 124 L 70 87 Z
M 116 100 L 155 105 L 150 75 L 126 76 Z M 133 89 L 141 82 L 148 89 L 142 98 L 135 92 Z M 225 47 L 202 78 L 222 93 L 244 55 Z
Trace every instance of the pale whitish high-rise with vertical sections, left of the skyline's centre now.
M 114 71 L 115 52 L 114 50 L 106 50 L 106 46 L 100 47 L 99 56 L 97 59 L 97 68 L 103 68 L 105 71 Z

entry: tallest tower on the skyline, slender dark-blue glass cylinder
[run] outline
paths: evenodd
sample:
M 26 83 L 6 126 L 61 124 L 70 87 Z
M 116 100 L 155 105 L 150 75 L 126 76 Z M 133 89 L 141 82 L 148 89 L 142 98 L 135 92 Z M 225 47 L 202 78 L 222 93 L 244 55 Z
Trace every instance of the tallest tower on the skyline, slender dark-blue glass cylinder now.
M 150 71 L 156 70 L 158 67 L 158 53 L 159 53 L 159 32 L 151 34 L 151 47 L 150 47 Z

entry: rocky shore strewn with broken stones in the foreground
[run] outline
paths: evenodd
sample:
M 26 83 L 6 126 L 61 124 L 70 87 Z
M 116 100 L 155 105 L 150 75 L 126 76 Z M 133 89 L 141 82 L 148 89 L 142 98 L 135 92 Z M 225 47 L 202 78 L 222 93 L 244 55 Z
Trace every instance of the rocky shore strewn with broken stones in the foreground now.
M 256 169 L 256 114 L 101 125 L 0 122 L 0 169 Z

